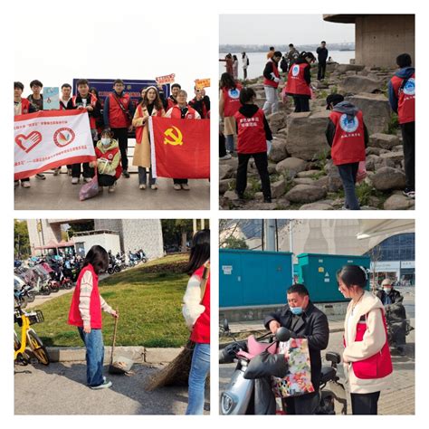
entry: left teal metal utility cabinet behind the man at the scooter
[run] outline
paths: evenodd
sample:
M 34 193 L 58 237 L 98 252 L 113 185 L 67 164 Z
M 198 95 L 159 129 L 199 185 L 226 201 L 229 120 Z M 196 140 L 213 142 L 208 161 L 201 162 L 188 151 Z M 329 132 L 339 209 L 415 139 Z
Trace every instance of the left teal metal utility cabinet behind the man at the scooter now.
M 219 307 L 284 304 L 292 284 L 292 254 L 219 250 Z

